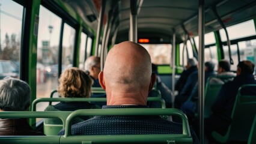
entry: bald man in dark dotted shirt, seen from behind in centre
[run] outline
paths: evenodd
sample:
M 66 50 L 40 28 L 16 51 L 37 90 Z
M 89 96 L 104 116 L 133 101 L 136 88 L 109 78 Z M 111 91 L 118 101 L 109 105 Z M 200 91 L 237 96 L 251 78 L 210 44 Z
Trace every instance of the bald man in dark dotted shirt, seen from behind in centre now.
M 151 73 L 151 59 L 139 44 L 125 41 L 108 53 L 99 82 L 106 89 L 107 106 L 103 109 L 146 108 L 148 92 L 154 86 L 156 74 Z M 73 135 L 104 134 L 182 134 L 181 124 L 159 116 L 95 116 L 72 125 Z M 197 136 L 191 131 L 194 143 Z M 64 134 L 64 130 L 59 135 Z

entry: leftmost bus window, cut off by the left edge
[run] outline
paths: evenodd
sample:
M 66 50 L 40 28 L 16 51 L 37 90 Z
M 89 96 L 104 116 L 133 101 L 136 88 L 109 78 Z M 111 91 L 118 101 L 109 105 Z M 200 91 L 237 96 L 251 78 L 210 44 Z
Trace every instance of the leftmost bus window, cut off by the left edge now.
M 1 1 L 0 79 L 19 78 L 23 6 Z

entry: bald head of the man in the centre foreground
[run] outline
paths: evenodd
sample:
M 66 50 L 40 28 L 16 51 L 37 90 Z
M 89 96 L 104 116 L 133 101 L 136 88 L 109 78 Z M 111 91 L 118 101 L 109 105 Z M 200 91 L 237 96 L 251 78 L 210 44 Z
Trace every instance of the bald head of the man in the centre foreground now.
M 151 71 L 150 55 L 141 45 L 124 41 L 112 47 L 99 74 L 107 105 L 146 105 L 148 92 L 156 81 L 156 74 Z

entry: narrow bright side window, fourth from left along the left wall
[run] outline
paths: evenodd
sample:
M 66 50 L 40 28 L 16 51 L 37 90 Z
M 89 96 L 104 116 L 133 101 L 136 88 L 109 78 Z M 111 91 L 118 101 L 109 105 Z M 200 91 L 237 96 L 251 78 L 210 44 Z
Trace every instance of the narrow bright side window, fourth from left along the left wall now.
M 84 62 L 85 62 L 85 44 L 87 41 L 87 35 L 82 32 L 81 34 L 81 43 L 80 43 L 80 52 L 79 52 L 79 68 L 84 70 Z

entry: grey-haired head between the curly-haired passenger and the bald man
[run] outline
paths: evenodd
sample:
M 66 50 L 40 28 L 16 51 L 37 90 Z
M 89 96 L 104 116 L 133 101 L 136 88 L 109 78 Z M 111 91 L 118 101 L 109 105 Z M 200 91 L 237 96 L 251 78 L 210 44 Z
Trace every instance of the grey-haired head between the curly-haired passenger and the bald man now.
M 97 56 L 90 56 L 85 61 L 85 71 L 90 73 L 94 79 L 98 79 L 100 73 L 100 58 Z

